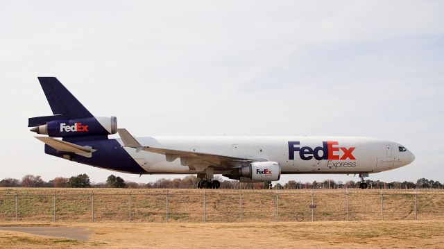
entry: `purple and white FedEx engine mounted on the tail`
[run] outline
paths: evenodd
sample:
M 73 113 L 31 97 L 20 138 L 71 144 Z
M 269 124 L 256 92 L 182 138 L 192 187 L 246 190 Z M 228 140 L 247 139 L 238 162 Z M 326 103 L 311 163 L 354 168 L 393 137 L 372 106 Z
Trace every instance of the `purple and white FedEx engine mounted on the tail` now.
M 117 132 L 116 117 L 91 117 L 86 119 L 60 119 L 48 121 L 31 131 L 49 137 L 83 137 L 111 135 Z

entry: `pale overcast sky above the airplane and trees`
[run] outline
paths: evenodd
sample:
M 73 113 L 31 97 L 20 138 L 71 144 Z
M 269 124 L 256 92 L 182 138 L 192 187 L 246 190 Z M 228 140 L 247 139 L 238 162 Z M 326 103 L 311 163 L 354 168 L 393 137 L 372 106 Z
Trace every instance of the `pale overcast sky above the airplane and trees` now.
M 444 1 L 0 1 L 0 71 L 0 180 L 114 173 L 26 127 L 56 76 L 137 136 L 379 137 L 416 161 L 370 179 L 444 182 Z

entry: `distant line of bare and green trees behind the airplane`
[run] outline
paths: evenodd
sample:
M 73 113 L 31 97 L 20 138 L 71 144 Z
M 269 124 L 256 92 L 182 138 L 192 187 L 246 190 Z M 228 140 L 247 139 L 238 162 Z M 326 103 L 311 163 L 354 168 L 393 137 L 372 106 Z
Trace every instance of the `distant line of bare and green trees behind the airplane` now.
M 271 182 L 237 182 L 236 180 L 222 180 L 221 189 L 268 189 Z M 155 182 L 137 183 L 125 181 L 119 176 L 110 175 L 105 182 L 94 183 L 87 174 L 74 175 L 71 178 L 54 178 L 48 182 L 42 180 L 40 175 L 25 175 L 21 180 L 5 178 L 0 181 L 0 187 L 72 187 L 72 188 L 128 188 L 128 189 L 195 189 L 198 179 L 194 175 L 185 178 L 162 178 Z M 384 182 L 380 180 L 366 180 L 371 189 L 444 189 L 441 182 L 420 178 L 416 182 Z M 359 182 L 324 180 L 322 182 L 297 182 L 289 180 L 285 184 L 275 184 L 275 189 L 345 189 L 359 188 Z

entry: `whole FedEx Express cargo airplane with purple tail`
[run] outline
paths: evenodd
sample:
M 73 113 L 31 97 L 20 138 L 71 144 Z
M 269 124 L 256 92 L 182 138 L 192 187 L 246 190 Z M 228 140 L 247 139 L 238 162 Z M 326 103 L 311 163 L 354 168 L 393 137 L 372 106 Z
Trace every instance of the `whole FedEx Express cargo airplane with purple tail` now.
M 133 137 L 116 117 L 94 117 L 57 78 L 39 77 L 53 112 L 28 127 L 46 154 L 134 174 L 195 174 L 198 188 L 219 188 L 215 174 L 240 182 L 282 174 L 359 174 L 396 169 L 415 159 L 405 146 L 368 137 Z M 120 139 L 108 138 L 119 133 Z M 61 139 L 58 139 L 61 138 Z

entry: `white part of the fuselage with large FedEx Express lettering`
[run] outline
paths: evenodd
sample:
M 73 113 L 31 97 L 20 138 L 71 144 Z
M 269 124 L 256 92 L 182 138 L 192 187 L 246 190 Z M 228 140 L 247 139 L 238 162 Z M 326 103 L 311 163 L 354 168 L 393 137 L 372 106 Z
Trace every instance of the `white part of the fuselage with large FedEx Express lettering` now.
M 377 173 L 414 160 L 413 153 L 401 144 L 368 137 L 139 137 L 137 140 L 143 146 L 278 162 L 282 174 Z M 158 153 L 136 152 L 134 148 L 126 151 L 148 173 L 199 173 L 182 165 L 179 159 L 168 162 L 165 155 Z M 214 169 L 214 173 L 229 171 Z

